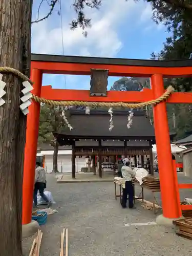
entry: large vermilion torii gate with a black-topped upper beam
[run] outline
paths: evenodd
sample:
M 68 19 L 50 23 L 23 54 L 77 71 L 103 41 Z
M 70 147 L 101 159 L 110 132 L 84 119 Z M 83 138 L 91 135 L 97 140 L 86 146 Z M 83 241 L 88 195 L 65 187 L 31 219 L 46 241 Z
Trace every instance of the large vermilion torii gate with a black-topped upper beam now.
M 91 69 L 109 69 L 109 76 L 150 77 L 152 89 L 142 92 L 108 91 L 107 97 L 90 96 L 88 90 L 41 88 L 42 74 L 90 75 Z M 94 58 L 58 55 L 31 55 L 32 93 L 49 100 L 144 102 L 164 93 L 163 77 L 191 76 L 192 60 L 158 61 L 137 59 Z M 174 93 L 168 103 L 191 103 L 192 93 Z M 35 162 L 38 139 L 40 104 L 33 100 L 27 117 L 27 132 L 23 179 L 23 224 L 31 222 Z M 157 144 L 159 177 L 163 216 L 169 219 L 181 217 L 181 209 L 192 205 L 180 205 L 179 188 L 192 188 L 192 184 L 178 186 L 176 169 L 172 161 L 166 102 L 154 106 L 154 126 Z

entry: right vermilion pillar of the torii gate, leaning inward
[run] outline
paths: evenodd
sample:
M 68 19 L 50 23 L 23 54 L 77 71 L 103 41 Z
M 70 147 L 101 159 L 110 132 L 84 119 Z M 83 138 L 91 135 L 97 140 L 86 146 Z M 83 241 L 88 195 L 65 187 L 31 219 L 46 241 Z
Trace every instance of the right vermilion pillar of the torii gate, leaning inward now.
M 154 98 L 159 98 L 164 93 L 163 76 L 152 75 L 151 85 Z M 154 127 L 163 216 L 169 219 L 180 218 L 165 101 L 154 106 Z

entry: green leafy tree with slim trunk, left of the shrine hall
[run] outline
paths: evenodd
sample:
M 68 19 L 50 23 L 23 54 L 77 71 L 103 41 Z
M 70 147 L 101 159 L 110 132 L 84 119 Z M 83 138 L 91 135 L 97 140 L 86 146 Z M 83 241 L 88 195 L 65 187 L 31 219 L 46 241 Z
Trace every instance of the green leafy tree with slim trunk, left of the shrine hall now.
M 67 115 L 68 109 L 65 109 Z M 39 136 L 38 143 L 49 143 L 53 146 L 53 173 L 58 173 L 57 158 L 59 143 L 53 133 L 59 133 L 66 126 L 66 121 L 62 115 L 61 106 L 42 105 L 39 118 Z

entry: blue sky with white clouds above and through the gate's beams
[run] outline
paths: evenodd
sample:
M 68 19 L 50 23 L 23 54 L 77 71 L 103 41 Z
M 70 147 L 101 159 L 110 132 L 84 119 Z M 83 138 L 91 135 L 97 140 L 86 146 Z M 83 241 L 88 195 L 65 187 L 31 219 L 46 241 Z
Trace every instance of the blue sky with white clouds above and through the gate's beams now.
M 69 23 L 76 17 L 73 0 L 60 0 L 62 12 L 62 29 L 60 16 L 57 14 L 59 4 L 53 14 L 44 22 L 32 25 L 32 53 L 65 55 L 117 57 L 148 59 L 151 53 L 159 52 L 168 36 L 163 25 L 156 25 L 152 17 L 150 4 L 140 0 L 103 0 L 99 11 L 86 9 L 92 18 L 92 28 L 84 38 L 81 29 L 70 31 Z M 33 20 L 37 18 L 41 0 L 33 1 Z M 68 2 L 68 4 L 67 4 Z M 39 17 L 49 11 L 47 2 L 41 6 Z M 61 33 L 62 31 L 62 33 Z M 108 79 L 109 88 L 117 77 Z M 51 84 L 59 89 L 90 88 L 89 76 L 44 75 L 43 85 Z

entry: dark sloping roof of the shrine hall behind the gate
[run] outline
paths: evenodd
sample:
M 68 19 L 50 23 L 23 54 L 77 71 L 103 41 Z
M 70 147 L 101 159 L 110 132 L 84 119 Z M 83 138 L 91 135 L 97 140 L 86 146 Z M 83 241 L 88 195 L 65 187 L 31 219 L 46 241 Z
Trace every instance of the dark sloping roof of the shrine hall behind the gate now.
M 127 129 L 128 110 L 114 110 L 113 124 L 114 128 L 109 131 L 110 115 L 105 110 L 91 110 L 90 115 L 85 114 L 84 110 L 72 110 L 69 123 L 73 130 L 68 127 L 62 129 L 60 134 L 71 138 L 82 137 L 100 137 L 100 138 L 148 138 L 155 139 L 154 127 L 150 123 L 144 111 L 134 111 L 133 124 L 131 129 Z

